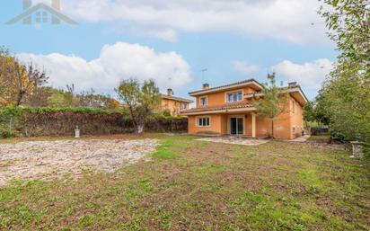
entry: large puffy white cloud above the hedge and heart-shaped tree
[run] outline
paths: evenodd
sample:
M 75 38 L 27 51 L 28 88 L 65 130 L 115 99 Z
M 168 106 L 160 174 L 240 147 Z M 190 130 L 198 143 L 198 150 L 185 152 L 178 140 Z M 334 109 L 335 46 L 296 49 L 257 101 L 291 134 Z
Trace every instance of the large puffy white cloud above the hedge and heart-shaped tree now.
M 177 53 L 159 53 L 138 44 L 117 42 L 105 45 L 101 55 L 92 61 L 74 55 L 19 54 L 24 61 L 30 60 L 44 67 L 49 82 L 55 87 L 75 84 L 77 90 L 111 92 L 122 79 L 137 77 L 140 81 L 154 79 L 162 88 L 180 87 L 191 81 L 188 63 Z M 169 81 L 169 78 L 172 78 Z

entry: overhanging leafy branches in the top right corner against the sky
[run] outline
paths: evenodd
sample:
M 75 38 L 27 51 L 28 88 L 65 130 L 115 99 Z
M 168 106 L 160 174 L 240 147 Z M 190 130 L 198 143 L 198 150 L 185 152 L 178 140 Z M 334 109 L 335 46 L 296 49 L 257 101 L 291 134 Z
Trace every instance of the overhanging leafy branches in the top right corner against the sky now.
M 321 1 L 321 0 L 319 0 Z M 330 29 L 330 39 L 340 50 L 339 66 L 357 68 L 370 77 L 370 2 L 368 0 L 323 0 L 319 13 Z

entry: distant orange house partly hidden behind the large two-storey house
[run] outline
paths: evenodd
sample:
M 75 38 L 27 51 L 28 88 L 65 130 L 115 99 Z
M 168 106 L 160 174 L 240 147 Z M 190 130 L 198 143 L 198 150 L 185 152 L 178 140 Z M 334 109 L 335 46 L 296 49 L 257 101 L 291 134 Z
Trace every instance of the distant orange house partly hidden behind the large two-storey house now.
M 162 111 L 170 111 L 172 116 L 179 116 L 181 111 L 188 110 L 189 103 L 192 101 L 173 96 L 172 89 L 168 89 L 167 94 L 162 94 Z

